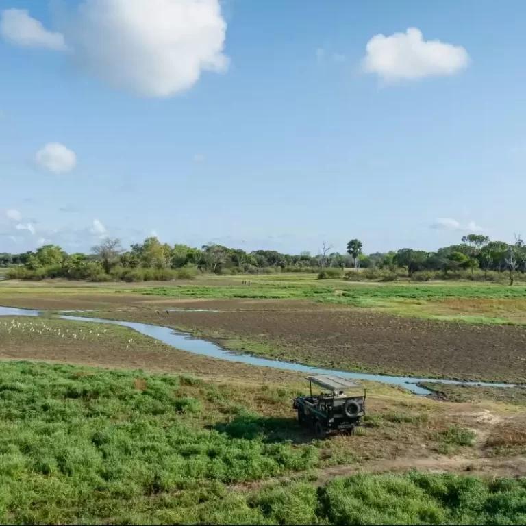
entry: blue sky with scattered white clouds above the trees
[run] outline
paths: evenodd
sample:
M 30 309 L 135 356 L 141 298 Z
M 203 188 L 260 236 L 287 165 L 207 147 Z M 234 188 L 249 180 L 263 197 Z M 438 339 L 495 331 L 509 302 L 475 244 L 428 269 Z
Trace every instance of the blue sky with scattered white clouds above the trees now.
M 200 1 L 0 0 L 0 252 L 522 231 L 526 3 Z

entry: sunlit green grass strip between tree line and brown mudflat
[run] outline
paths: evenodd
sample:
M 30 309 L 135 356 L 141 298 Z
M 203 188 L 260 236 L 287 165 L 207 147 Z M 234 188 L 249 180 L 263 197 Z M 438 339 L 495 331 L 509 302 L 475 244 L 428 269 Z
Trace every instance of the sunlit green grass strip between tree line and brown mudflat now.
M 244 283 L 245 281 L 245 283 Z M 303 300 L 334 308 L 362 308 L 401 316 L 467 323 L 526 323 L 526 286 L 472 281 L 418 284 L 318 280 L 314 274 L 201 276 L 193 281 L 163 284 L 92 284 L 67 281 L 3 281 L 0 303 L 10 297 L 73 297 L 119 294 L 158 299 Z

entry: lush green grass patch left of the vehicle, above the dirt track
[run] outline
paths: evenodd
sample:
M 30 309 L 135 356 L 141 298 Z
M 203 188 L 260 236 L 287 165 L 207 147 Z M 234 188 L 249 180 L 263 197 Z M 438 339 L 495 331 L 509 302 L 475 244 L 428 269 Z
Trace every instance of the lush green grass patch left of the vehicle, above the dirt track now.
M 184 499 L 318 462 L 316 447 L 286 440 L 294 420 L 262 418 L 198 381 L 203 392 L 189 395 L 186 383 L 1 363 L 0 523 L 184 521 Z M 218 426 L 225 418 L 234 423 Z

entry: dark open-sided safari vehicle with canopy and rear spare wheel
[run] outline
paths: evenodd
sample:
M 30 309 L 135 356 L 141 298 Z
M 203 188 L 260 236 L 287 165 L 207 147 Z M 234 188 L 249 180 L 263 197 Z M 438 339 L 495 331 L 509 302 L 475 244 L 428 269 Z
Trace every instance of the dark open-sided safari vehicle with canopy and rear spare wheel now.
M 310 376 L 310 395 L 297 397 L 292 407 L 298 412 L 298 422 L 314 430 L 317 438 L 325 438 L 331 431 L 354 434 L 365 415 L 364 386 L 334 376 Z M 323 391 L 312 395 L 312 384 Z M 357 390 L 360 390 L 358 394 Z

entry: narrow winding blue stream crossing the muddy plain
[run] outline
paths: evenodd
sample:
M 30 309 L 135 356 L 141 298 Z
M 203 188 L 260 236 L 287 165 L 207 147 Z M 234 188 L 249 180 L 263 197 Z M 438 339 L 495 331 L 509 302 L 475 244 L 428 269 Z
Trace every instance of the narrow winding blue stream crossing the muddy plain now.
M 164 309 L 166 310 L 166 309 Z M 190 310 L 190 309 L 185 309 Z M 45 311 L 44 311 L 45 312 Z M 73 311 L 61 311 L 61 312 L 73 312 Z M 79 311 L 76 311 L 79 312 Z M 81 311 L 82 312 L 82 311 Z M 29 310 L 29 309 L 17 309 L 12 307 L 0 307 L 0 316 L 40 316 L 42 311 Z M 492 384 L 489 382 L 482 381 L 457 381 L 448 379 L 436 379 L 436 378 L 414 378 L 414 377 L 403 377 L 403 376 L 388 376 L 388 375 L 370 375 L 367 373 L 350 373 L 349 371 L 336 371 L 334 369 L 323 369 L 317 367 L 309 367 L 302 364 L 295 364 L 292 362 L 281 362 L 279 360 L 268 360 L 266 358 L 257 358 L 249 354 L 239 354 L 223 349 L 220 345 L 217 345 L 208 340 L 201 338 L 195 338 L 191 334 L 181 331 L 175 331 L 169 327 L 160 327 L 158 325 L 149 325 L 148 323 L 137 323 L 134 321 L 115 321 L 115 320 L 103 320 L 100 318 L 85 318 L 82 316 L 59 316 L 63 320 L 74 320 L 74 321 L 88 321 L 92 323 L 108 323 L 110 325 L 122 325 L 123 327 L 129 327 L 134 329 L 140 334 L 150 336 L 159 340 L 160 342 L 166 343 L 189 353 L 201 354 L 204 356 L 210 356 L 210 358 L 221 358 L 222 360 L 230 360 L 231 362 L 239 362 L 242 364 L 257 365 L 262 367 L 273 367 L 276 369 L 284 369 L 286 371 L 300 371 L 302 373 L 308 373 L 309 375 L 338 375 L 345 378 L 352 378 L 358 380 L 368 381 L 380 381 L 384 384 L 393 384 L 401 386 L 414 392 L 416 395 L 429 395 L 431 391 L 417 386 L 421 382 L 432 381 L 440 384 L 455 384 L 464 386 L 488 386 L 488 387 L 517 387 L 516 384 Z

